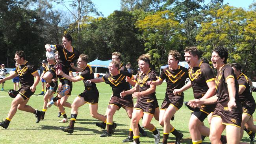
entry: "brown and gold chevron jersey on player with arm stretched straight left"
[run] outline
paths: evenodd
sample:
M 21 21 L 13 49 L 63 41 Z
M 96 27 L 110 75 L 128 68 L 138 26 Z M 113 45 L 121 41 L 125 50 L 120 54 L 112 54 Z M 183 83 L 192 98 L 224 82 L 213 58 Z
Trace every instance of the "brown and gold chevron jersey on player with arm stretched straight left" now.
M 106 74 L 102 79 L 109 82 L 108 84 L 112 87 L 113 96 L 121 98 L 120 93 L 123 90 L 130 89 L 129 83 L 125 81 L 126 76 L 133 78 L 133 75 L 130 72 L 119 70 L 119 74 L 117 76 Z M 129 96 L 131 97 L 132 95 Z

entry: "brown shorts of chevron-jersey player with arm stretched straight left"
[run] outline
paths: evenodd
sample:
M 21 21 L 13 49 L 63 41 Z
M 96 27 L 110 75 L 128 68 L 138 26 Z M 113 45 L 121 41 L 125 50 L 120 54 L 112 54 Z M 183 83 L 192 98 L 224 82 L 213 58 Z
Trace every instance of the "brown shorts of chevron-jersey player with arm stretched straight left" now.
M 134 103 L 132 101 L 132 98 L 130 96 L 128 97 L 117 97 L 117 96 L 112 96 L 110 101 L 109 101 L 109 105 L 115 105 L 117 107 L 119 107 L 119 109 L 121 107 L 128 107 L 128 108 L 133 108 L 134 107 Z

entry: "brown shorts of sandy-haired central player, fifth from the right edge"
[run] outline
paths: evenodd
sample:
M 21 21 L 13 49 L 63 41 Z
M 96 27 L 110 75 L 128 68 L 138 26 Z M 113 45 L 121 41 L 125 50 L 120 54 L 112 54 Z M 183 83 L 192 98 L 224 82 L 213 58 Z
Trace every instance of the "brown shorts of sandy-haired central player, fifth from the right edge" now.
M 140 109 L 143 111 L 143 113 L 154 115 L 156 110 L 156 103 L 157 102 L 155 99 L 148 99 L 147 102 L 142 102 L 141 100 L 137 99 L 134 109 Z

